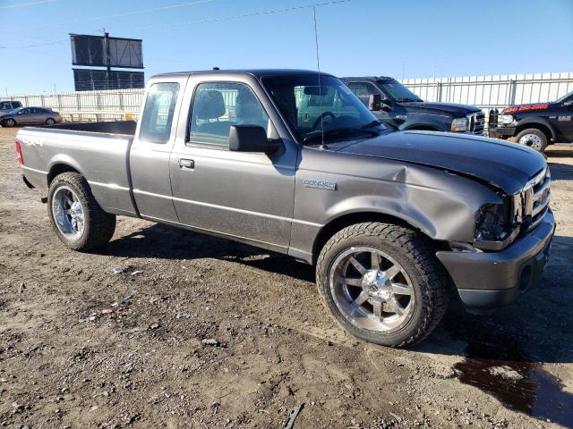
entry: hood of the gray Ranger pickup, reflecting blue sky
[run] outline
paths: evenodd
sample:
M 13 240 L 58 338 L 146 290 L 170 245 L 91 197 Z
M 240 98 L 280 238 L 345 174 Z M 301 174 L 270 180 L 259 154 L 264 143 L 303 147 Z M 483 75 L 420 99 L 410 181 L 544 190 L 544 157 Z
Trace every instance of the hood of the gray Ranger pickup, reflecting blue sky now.
M 396 131 L 331 148 L 458 172 L 492 183 L 509 195 L 545 166 L 543 156 L 529 147 L 447 132 Z

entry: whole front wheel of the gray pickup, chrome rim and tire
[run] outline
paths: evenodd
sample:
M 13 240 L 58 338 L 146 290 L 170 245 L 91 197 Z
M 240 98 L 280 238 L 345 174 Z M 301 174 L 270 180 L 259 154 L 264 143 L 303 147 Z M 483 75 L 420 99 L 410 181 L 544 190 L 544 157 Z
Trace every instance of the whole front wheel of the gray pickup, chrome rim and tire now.
M 322 248 L 317 285 L 335 320 L 356 337 L 391 347 L 422 341 L 448 307 L 432 243 L 391 223 L 357 223 Z

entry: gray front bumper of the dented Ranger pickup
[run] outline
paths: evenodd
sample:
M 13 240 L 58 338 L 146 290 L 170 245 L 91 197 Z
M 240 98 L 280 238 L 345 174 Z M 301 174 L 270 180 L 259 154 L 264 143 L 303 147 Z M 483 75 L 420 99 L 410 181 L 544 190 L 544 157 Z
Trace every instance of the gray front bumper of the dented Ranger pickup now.
M 515 301 L 520 293 L 539 283 L 554 231 L 555 217 L 550 209 L 535 230 L 508 248 L 479 253 L 439 251 L 436 256 L 458 288 L 466 309 L 483 313 Z

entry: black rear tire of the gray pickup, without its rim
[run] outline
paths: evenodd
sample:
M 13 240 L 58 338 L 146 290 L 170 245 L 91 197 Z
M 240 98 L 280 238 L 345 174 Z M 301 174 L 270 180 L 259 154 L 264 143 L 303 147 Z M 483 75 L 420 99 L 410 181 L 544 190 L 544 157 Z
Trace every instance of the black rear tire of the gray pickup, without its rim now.
M 56 225 L 54 218 L 54 194 L 61 187 L 72 189 L 78 197 L 84 214 L 84 227 L 81 236 L 70 240 Z M 115 214 L 104 212 L 91 193 L 90 185 L 78 172 L 63 172 L 56 176 L 47 193 L 47 213 L 56 234 L 68 248 L 87 251 L 105 245 L 114 235 Z

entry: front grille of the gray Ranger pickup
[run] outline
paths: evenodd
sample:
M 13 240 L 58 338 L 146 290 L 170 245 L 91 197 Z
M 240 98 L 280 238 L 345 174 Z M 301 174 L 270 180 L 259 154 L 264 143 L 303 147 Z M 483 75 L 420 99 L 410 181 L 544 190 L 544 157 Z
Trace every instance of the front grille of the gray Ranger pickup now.
M 551 182 L 551 172 L 545 167 L 541 172 L 535 173 L 526 187 L 517 194 L 516 220 L 526 226 L 522 231 L 534 229 L 547 213 L 552 195 Z

